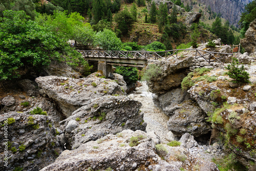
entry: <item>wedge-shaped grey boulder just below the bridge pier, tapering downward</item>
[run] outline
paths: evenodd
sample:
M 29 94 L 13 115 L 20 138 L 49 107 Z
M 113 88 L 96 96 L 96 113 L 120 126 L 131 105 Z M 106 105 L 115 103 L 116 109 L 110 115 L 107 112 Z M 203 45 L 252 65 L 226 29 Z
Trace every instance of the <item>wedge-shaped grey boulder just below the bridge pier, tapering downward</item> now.
M 36 78 L 36 82 L 50 98 L 56 101 L 66 117 L 86 105 L 89 99 L 125 94 L 114 80 L 97 77 L 75 79 L 46 76 Z

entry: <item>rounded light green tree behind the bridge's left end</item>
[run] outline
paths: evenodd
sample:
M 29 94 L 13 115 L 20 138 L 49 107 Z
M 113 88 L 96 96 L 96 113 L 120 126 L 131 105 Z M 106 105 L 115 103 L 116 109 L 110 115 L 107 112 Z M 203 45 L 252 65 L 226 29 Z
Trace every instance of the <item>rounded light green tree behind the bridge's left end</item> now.
M 122 42 L 113 31 L 104 29 L 95 35 L 94 44 L 104 50 L 116 51 L 121 49 Z

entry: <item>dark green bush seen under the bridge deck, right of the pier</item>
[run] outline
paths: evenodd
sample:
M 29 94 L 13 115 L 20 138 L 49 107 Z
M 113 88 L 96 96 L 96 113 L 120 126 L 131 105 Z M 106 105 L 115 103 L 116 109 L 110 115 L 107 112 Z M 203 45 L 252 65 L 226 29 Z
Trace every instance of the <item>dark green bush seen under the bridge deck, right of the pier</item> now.
M 115 73 L 122 75 L 124 81 L 127 84 L 136 82 L 139 79 L 137 68 L 119 67 L 119 66 L 115 66 L 115 67 L 116 67 Z

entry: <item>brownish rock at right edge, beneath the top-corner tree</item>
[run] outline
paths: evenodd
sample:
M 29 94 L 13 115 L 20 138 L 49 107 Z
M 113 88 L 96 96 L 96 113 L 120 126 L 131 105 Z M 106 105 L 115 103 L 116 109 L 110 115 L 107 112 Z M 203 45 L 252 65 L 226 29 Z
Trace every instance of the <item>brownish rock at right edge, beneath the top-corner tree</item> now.
M 250 23 L 250 26 L 245 33 L 245 38 L 243 38 L 240 42 L 241 46 L 249 54 L 256 52 L 256 19 Z

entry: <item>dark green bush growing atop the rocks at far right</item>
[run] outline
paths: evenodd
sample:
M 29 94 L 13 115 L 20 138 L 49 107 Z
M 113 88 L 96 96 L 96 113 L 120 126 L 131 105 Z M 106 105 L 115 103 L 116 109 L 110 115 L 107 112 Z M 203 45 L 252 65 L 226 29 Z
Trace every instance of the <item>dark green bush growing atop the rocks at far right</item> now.
M 248 83 L 249 73 L 245 71 L 244 65 L 239 67 L 239 62 L 237 58 L 232 58 L 231 65 L 228 65 L 226 69 L 228 70 L 227 75 L 237 83 Z

